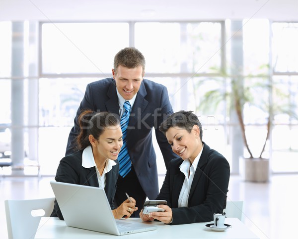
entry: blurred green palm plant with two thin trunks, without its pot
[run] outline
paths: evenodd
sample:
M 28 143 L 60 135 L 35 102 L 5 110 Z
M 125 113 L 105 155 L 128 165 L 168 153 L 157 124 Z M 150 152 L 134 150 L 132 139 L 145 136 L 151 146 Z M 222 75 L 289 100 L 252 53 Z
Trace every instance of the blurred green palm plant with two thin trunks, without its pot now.
M 247 124 L 243 116 L 245 107 L 258 108 L 266 115 L 263 118 L 263 122 L 266 122 L 266 137 L 263 140 L 258 158 L 262 158 L 266 148 L 274 116 L 276 114 L 287 114 L 297 118 L 294 111 L 292 111 L 293 105 L 290 105 L 286 100 L 288 96 L 271 84 L 269 76 L 248 75 L 244 77 L 243 75 L 237 75 L 231 77 L 225 72 L 222 72 L 222 78 L 212 80 L 220 81 L 218 85 L 221 87 L 207 91 L 201 98 L 197 110 L 202 110 L 203 112 L 210 109 L 214 110 L 221 102 L 226 102 L 227 115 L 229 115 L 231 110 L 234 110 L 237 115 L 243 143 L 247 149 L 249 158 L 254 158 L 254 156 L 246 134 Z M 202 82 L 198 83 L 197 87 L 201 87 L 201 84 Z M 264 97 L 264 94 L 266 97 Z

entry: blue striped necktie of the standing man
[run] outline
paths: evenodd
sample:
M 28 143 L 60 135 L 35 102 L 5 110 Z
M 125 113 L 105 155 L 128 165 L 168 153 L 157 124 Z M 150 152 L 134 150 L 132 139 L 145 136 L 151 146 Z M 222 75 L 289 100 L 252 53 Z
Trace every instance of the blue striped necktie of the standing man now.
M 129 116 L 130 116 L 130 109 L 131 109 L 131 104 L 129 101 L 125 101 L 123 105 L 123 114 L 121 117 L 121 130 L 122 130 L 122 140 L 123 140 L 123 145 L 120 150 L 120 153 L 118 155 L 118 161 L 119 161 L 119 174 L 124 178 L 129 171 L 131 171 L 132 164 L 130 160 L 130 156 L 128 154 L 128 149 L 127 149 L 127 143 L 126 143 L 126 135 L 127 135 L 127 126 L 129 122 Z

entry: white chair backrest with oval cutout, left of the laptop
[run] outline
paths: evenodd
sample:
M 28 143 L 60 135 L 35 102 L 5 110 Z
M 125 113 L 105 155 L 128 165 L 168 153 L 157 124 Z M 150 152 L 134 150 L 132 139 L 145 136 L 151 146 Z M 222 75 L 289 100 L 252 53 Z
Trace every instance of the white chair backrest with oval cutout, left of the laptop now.
M 41 217 L 49 217 L 55 197 L 5 200 L 6 225 L 9 239 L 33 239 Z

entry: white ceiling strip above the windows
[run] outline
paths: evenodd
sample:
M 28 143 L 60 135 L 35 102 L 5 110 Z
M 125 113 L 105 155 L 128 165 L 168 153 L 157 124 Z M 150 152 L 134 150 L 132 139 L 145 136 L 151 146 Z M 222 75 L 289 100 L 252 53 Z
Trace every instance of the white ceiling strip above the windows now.
M 0 0 L 0 21 L 298 21 L 298 0 Z

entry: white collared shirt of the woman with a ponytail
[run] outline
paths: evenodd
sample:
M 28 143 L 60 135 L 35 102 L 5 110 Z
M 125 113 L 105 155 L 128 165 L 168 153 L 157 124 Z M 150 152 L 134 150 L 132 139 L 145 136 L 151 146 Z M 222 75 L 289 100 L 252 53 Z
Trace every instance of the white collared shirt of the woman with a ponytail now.
M 97 175 L 97 180 L 98 180 L 98 184 L 99 184 L 99 188 L 104 189 L 105 185 L 106 185 L 106 173 L 108 173 L 112 167 L 116 165 L 116 162 L 112 159 L 108 159 L 103 173 L 100 176 L 99 171 L 97 169 L 95 160 L 94 160 L 94 156 L 93 156 L 93 152 L 92 152 L 92 147 L 91 146 L 87 146 L 84 150 L 83 150 L 83 154 L 82 154 L 82 166 L 84 168 L 92 168 L 95 166 L 95 170 L 96 170 L 96 175 Z

